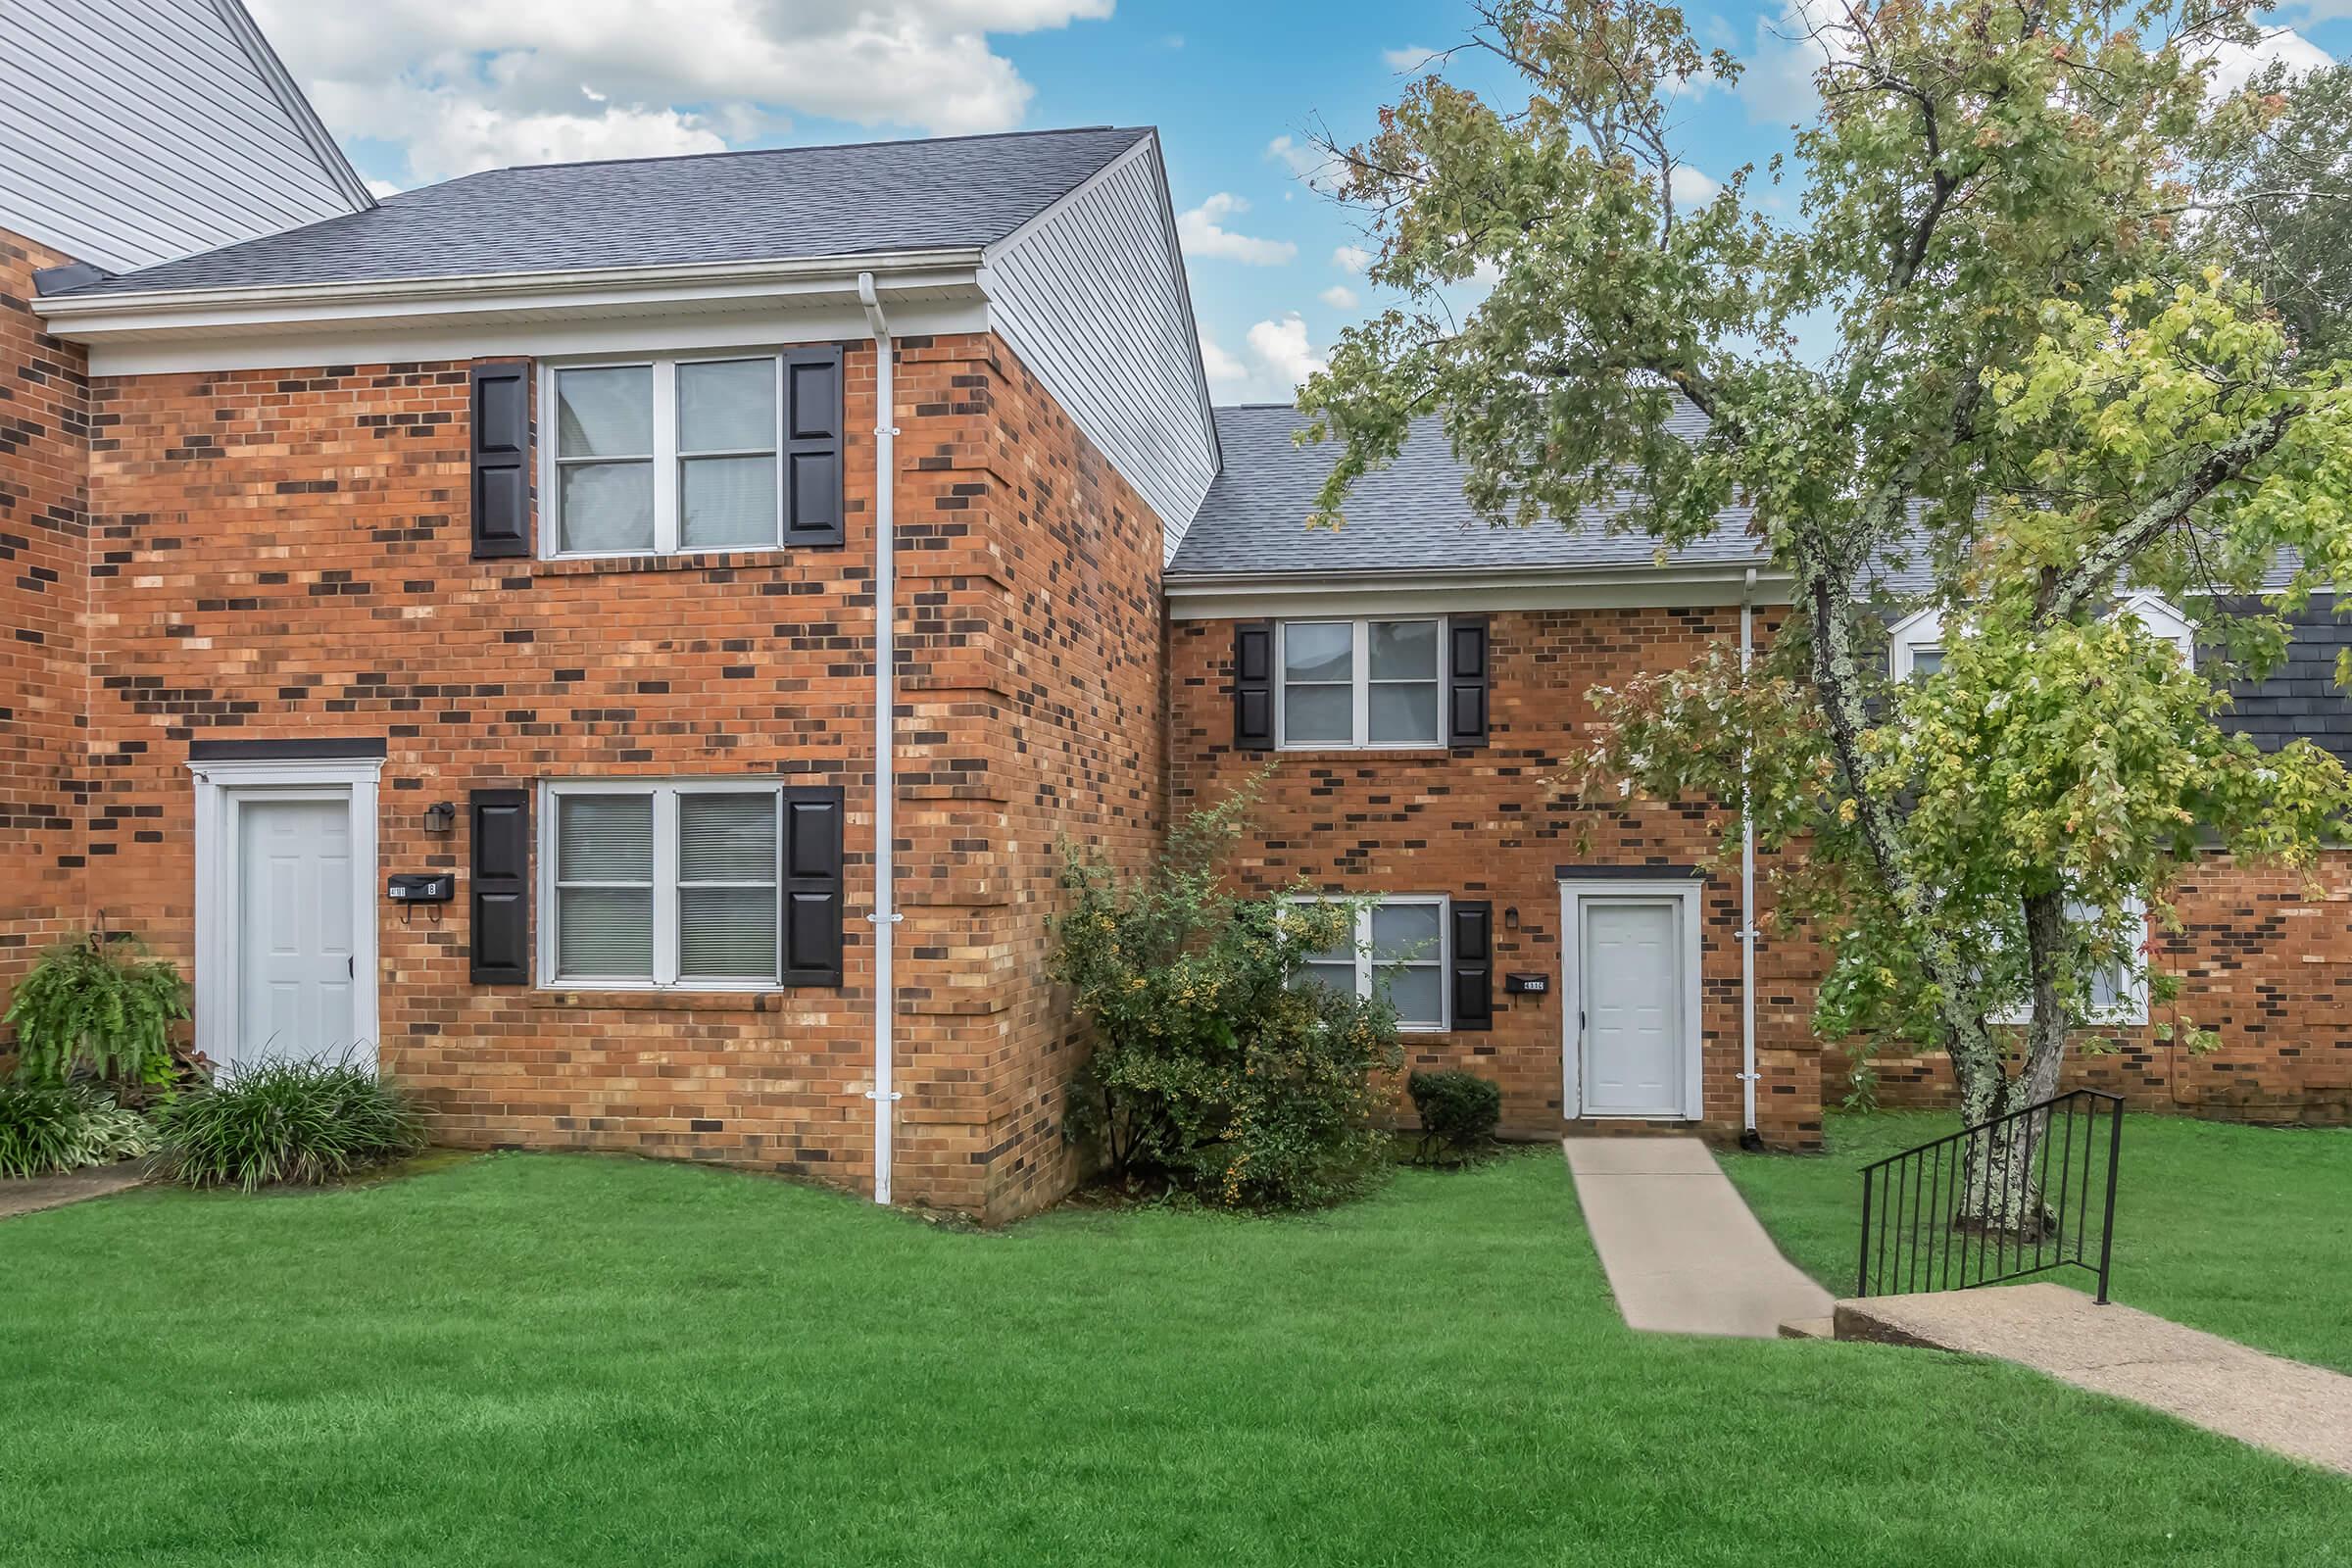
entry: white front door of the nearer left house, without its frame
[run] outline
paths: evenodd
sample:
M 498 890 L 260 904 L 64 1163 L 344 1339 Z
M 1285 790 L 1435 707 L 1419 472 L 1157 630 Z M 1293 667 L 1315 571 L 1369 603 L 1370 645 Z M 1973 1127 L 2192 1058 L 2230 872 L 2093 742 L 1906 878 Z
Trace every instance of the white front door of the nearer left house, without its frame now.
M 238 802 L 230 1065 L 341 1058 L 358 1037 L 350 799 Z

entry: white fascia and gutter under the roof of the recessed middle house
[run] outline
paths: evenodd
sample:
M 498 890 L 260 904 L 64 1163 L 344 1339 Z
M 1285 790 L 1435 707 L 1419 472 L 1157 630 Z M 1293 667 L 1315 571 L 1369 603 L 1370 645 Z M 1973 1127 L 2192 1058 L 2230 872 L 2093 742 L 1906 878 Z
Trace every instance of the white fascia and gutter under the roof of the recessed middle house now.
M 1708 567 L 1477 567 L 1456 571 L 1178 574 L 1171 621 L 1470 614 L 1498 609 L 1684 609 L 1738 604 L 1748 562 Z M 1788 604 L 1788 574 L 1757 569 L 1755 604 Z

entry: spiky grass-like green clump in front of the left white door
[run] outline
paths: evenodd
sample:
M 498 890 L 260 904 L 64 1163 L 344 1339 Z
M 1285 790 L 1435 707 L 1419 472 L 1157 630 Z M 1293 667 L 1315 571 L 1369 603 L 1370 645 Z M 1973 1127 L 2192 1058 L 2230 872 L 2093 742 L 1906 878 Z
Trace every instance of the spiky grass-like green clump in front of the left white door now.
M 423 1119 L 350 1063 L 263 1063 L 155 1112 L 162 1171 L 191 1187 L 325 1182 L 414 1154 Z

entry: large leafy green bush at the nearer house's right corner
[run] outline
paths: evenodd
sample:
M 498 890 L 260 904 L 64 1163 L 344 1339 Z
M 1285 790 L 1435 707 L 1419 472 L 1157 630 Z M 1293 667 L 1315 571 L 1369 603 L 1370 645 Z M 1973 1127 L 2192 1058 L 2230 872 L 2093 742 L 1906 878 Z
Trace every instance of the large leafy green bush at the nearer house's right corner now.
M 1376 1180 L 1402 1051 L 1385 1001 L 1298 983 L 1310 954 L 1355 940 L 1355 905 L 1223 891 L 1218 858 L 1256 790 L 1192 816 L 1143 877 L 1070 856 L 1054 978 L 1096 1046 L 1065 1133 L 1129 1187 L 1296 1208 Z

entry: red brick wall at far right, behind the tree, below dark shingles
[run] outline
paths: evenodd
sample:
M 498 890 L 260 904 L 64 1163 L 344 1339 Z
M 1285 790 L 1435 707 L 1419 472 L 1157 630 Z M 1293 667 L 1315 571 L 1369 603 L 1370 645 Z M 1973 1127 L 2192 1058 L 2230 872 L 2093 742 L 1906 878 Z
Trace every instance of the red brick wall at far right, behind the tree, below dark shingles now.
M 2150 961 L 2180 978 L 2180 997 L 2147 1027 L 2105 1030 L 2112 1051 L 2077 1051 L 2067 1088 L 2220 1121 L 2352 1124 L 2352 851 L 2307 877 L 2211 856 L 2173 900 L 2183 929 L 2157 931 Z M 2157 1023 L 2176 1025 L 2173 1039 L 2157 1039 Z M 2218 1048 L 2180 1044 L 2190 1023 L 2216 1030 Z M 1832 1095 L 1844 1067 L 1832 1058 Z M 1882 1058 L 1877 1072 L 1889 1105 L 1952 1103 L 1940 1053 Z

